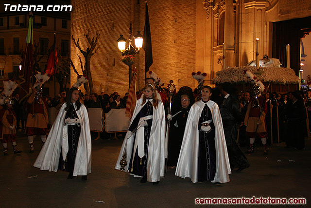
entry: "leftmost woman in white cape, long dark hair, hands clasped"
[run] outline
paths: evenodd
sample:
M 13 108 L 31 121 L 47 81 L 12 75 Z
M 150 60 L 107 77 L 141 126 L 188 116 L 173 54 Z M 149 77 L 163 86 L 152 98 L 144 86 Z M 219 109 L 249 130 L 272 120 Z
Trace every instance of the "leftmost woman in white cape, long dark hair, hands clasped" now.
M 71 88 L 34 166 L 40 170 L 66 170 L 68 179 L 91 173 L 91 135 L 88 115 L 78 88 Z

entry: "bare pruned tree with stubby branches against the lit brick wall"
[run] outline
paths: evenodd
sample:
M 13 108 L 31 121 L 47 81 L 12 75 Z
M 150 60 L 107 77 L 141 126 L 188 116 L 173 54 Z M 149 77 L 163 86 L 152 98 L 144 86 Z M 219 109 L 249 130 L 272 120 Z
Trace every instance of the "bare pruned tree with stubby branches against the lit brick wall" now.
M 97 50 L 99 48 L 99 46 L 96 48 L 97 41 L 98 41 L 99 37 L 100 37 L 100 34 L 98 33 L 98 31 L 96 31 L 96 39 L 94 40 L 94 37 L 91 39 L 89 37 L 89 30 L 87 30 L 86 39 L 87 39 L 88 44 L 91 46 L 91 48 L 86 48 L 86 51 L 83 51 L 79 45 L 79 38 L 76 41 L 75 38 L 73 38 L 73 36 L 71 36 L 75 46 L 77 48 L 79 48 L 80 52 L 82 53 L 82 55 L 85 58 L 85 64 L 83 65 L 82 58 L 77 54 L 77 56 L 79 57 L 79 60 L 80 60 L 82 73 L 83 73 L 83 75 L 86 75 L 89 78 L 88 82 L 86 82 L 84 84 L 84 88 L 86 89 L 87 94 L 94 92 L 93 80 L 92 80 L 91 69 L 90 69 L 90 61 L 91 61 L 91 57 L 97 52 Z M 95 51 L 94 51 L 94 49 L 95 49 Z

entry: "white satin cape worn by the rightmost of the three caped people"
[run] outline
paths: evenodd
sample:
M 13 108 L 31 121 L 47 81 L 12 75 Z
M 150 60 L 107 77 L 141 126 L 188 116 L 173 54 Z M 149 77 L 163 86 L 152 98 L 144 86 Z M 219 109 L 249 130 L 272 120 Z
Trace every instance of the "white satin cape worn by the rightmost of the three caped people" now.
M 183 143 L 178 158 L 175 175 L 181 178 L 191 178 L 192 183 L 198 182 L 198 154 L 199 154 L 199 118 L 205 103 L 200 100 L 190 109 L 185 128 Z M 231 173 L 228 152 L 225 143 L 223 121 L 218 105 L 208 101 L 207 106 L 212 113 L 215 125 L 216 173 L 212 183 L 229 182 Z

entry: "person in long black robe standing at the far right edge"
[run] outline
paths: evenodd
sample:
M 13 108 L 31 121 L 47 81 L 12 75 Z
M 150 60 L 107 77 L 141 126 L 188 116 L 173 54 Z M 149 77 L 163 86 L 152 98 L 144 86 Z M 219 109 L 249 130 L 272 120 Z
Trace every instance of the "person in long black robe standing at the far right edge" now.
M 286 109 L 287 136 L 286 147 L 294 147 L 298 150 L 305 148 L 304 125 L 307 113 L 303 101 L 297 92 L 289 94 L 292 103 Z

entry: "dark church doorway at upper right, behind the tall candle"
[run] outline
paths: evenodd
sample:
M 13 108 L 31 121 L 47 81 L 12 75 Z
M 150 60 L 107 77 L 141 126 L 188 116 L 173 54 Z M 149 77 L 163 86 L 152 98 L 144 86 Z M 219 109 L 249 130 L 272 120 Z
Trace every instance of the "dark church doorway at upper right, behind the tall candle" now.
M 306 28 L 311 28 L 311 17 L 273 22 L 272 55 L 280 60 L 282 67 L 286 67 L 286 45 L 289 44 L 291 68 L 297 76 L 300 67 L 300 38 Z

